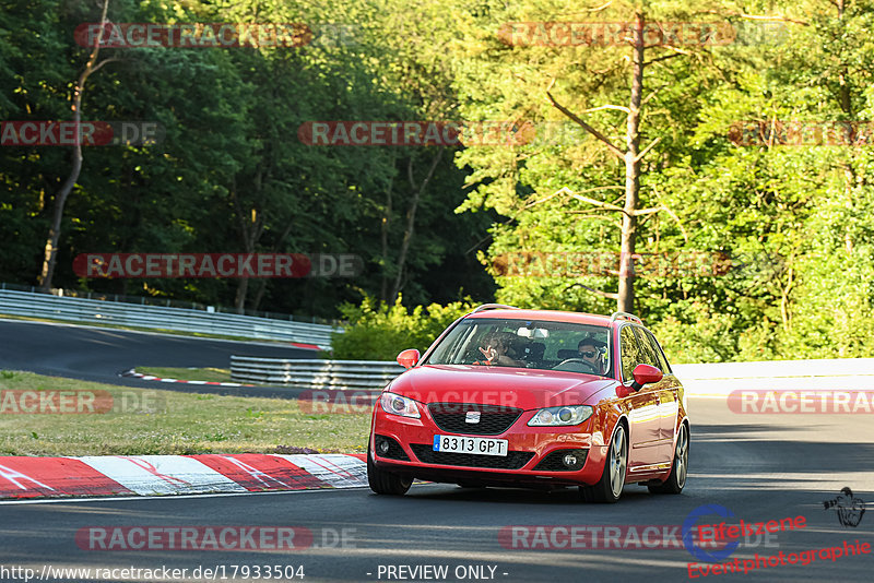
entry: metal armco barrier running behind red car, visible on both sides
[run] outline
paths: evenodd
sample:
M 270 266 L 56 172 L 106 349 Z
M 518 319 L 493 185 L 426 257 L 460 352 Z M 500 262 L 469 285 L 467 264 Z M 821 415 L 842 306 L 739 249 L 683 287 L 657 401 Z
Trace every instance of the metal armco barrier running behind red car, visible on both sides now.
M 672 369 L 687 396 L 724 396 L 739 389 L 874 389 L 874 358 L 673 365 Z M 403 370 L 382 360 L 231 357 L 234 381 L 307 389 L 381 391 Z

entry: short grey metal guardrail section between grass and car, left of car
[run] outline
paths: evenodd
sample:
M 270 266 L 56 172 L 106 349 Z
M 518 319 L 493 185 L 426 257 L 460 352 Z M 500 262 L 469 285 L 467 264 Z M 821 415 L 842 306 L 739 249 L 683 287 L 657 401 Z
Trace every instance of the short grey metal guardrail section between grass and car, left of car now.
M 284 384 L 304 389 L 381 391 L 403 367 L 381 360 L 286 360 L 231 357 L 231 379 L 237 382 Z

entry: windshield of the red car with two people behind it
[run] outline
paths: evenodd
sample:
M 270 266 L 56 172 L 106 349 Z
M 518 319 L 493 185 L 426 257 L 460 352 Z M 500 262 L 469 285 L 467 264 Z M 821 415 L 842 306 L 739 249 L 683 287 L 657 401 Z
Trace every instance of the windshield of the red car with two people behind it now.
M 427 365 L 479 365 L 610 376 L 606 326 L 470 318 L 437 345 Z

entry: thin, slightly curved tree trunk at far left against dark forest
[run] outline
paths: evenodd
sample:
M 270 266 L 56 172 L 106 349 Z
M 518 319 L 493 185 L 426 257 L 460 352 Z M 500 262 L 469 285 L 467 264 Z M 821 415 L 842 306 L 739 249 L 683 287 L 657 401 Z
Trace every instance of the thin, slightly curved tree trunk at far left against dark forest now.
M 79 174 L 82 171 L 82 132 L 80 131 L 80 123 L 82 122 L 82 94 L 85 91 L 85 82 L 87 79 L 104 64 L 117 59 L 104 59 L 97 62 L 97 56 L 101 52 L 101 41 L 103 40 L 104 26 L 106 24 L 106 11 L 109 8 L 109 0 L 104 0 L 103 13 L 101 14 L 101 34 L 94 44 L 94 50 L 91 51 L 85 63 L 85 70 L 79 75 L 75 87 L 73 87 L 73 123 L 76 130 L 75 145 L 73 146 L 73 167 L 70 169 L 70 175 L 63 181 L 61 189 L 55 195 L 55 205 L 51 213 L 51 227 L 48 230 L 48 239 L 46 239 L 46 247 L 43 253 L 43 269 L 39 271 L 37 281 L 39 287 L 49 291 L 51 289 L 51 281 L 55 276 L 55 264 L 58 260 L 58 241 L 61 237 L 61 222 L 63 221 L 63 207 L 67 204 L 67 199 L 73 187 L 79 180 Z

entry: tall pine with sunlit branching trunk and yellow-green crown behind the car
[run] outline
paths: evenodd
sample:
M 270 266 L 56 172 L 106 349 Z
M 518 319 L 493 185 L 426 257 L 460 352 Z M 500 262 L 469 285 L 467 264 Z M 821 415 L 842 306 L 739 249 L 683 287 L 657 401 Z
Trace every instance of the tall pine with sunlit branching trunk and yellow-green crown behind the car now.
M 567 216 L 565 223 L 566 228 L 577 231 L 591 227 L 602 231 L 602 225 L 615 223 L 599 215 L 618 213 L 622 216 L 621 224 L 616 225 L 618 238 L 612 234 L 592 238 L 580 233 L 582 240 L 576 245 L 563 240 L 556 251 L 563 250 L 560 247 L 564 250 L 618 247 L 618 261 L 615 270 L 611 270 L 617 284 L 609 277 L 599 277 L 594 282 L 592 278 L 578 281 L 572 287 L 615 299 L 619 310 L 639 311 L 643 308 L 635 306 L 635 263 L 641 235 L 649 236 L 641 234 L 641 222 L 658 223 L 658 215 L 664 214 L 666 221 L 676 223 L 683 240 L 687 240 L 678 213 L 668 204 L 663 193 L 653 191 L 652 179 L 648 178 L 682 158 L 683 130 L 668 123 L 687 123 L 688 119 L 677 120 L 673 116 L 688 117 L 684 109 L 695 107 L 695 100 L 688 105 L 677 104 L 680 93 L 686 93 L 683 98 L 694 99 L 695 93 L 704 91 L 694 88 L 688 78 L 677 73 L 682 71 L 688 75 L 692 72 L 701 85 L 710 83 L 708 78 L 714 73 L 724 78 L 723 71 L 714 71 L 717 68 L 712 67 L 709 44 L 720 40 L 725 23 L 710 29 L 687 26 L 689 29 L 681 32 L 677 39 L 672 37 L 671 24 L 688 23 L 693 20 L 690 16 L 705 11 L 705 7 L 668 1 L 648 2 L 645 9 L 639 3 L 609 2 L 580 12 L 560 1 L 511 9 L 491 5 L 487 17 L 481 19 L 491 26 L 485 32 L 471 32 L 473 40 L 466 44 L 468 53 L 459 59 L 459 93 L 470 96 L 463 105 L 465 112 L 475 118 L 488 108 L 494 111 L 493 100 L 481 97 L 485 92 L 500 99 L 507 118 L 531 120 L 535 128 L 555 127 L 550 111 L 539 99 L 543 96 L 551 108 L 581 128 L 583 135 L 566 133 L 557 144 L 546 141 L 523 144 L 515 150 L 516 156 L 487 155 L 483 148 L 470 148 L 459 162 L 476 168 L 472 178 L 477 180 L 477 188 L 460 210 L 495 207 L 511 217 L 510 224 L 520 222 L 521 227 L 524 214 L 546 212 L 547 205 L 562 205 L 565 215 L 580 215 L 574 221 Z M 568 19 L 568 14 L 577 19 Z M 580 14 L 584 17 L 579 19 Z M 587 22 L 592 36 L 576 46 L 563 44 L 560 34 L 556 33 L 560 25 L 552 22 L 579 20 Z M 628 24 L 621 28 L 617 21 Z M 494 22 L 505 23 L 497 34 Z M 689 35 L 698 32 L 701 36 L 689 40 Z M 501 37 L 504 46 L 495 37 Z M 692 68 L 686 66 L 688 62 L 704 67 Z M 646 91 L 647 87 L 650 90 Z M 615 105 L 617 102 L 627 105 Z M 647 107 L 652 114 L 647 114 Z M 617 112 L 622 114 L 621 119 Z M 619 141 L 624 142 L 624 147 L 616 145 Z M 648 145 L 641 147 L 641 144 Z M 660 144 L 659 151 L 653 150 L 657 144 Z M 607 159 L 599 153 L 604 146 Z M 649 157 L 654 159 L 647 163 L 646 156 L 650 153 Z M 552 168 L 546 160 L 552 162 Z M 619 190 L 624 192 L 624 202 L 617 204 L 619 201 L 614 201 L 612 194 Z M 588 195 L 590 192 L 598 194 Z M 654 204 L 641 207 L 642 201 L 653 200 Z M 576 203 L 582 203 L 582 207 Z M 584 227 L 580 228 L 577 219 Z M 519 228 L 513 230 L 523 236 Z M 507 231 L 498 229 L 496 233 Z M 527 241 L 527 247 L 530 246 L 531 241 Z M 542 245 L 534 247 L 545 250 Z M 493 257 L 495 254 L 493 252 Z M 617 285 L 617 289 L 598 289 L 600 283 Z M 590 304 L 582 298 L 578 301 Z

